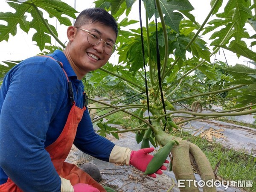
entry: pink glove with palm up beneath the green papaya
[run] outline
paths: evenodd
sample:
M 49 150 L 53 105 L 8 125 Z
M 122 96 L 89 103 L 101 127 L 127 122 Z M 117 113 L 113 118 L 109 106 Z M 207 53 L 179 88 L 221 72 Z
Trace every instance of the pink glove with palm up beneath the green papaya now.
M 145 170 L 148 166 L 148 163 L 154 157 L 153 155 L 148 154 L 148 153 L 151 153 L 153 151 L 154 151 L 153 147 L 143 148 L 143 149 L 140 149 L 138 151 L 131 151 L 129 164 L 134 166 L 135 168 L 139 169 L 140 171 L 145 172 Z M 169 161 L 166 160 L 164 163 L 169 163 Z M 167 168 L 166 168 L 166 166 L 161 166 L 160 169 L 166 170 Z M 158 169 L 155 173 L 158 174 L 158 175 L 163 174 L 163 172 L 160 169 Z M 157 177 L 156 174 L 153 173 L 153 174 L 150 174 L 148 176 L 155 178 L 155 177 Z

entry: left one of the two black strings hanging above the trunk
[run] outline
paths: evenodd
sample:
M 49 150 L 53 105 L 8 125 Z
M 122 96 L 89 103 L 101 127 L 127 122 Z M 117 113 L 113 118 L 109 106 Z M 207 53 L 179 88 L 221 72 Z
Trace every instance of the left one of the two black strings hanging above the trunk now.
M 145 65 L 145 51 L 144 51 L 144 40 L 143 40 L 143 28 L 142 28 L 142 20 L 141 20 L 141 0 L 139 0 L 139 13 L 140 13 L 140 34 L 141 34 L 141 45 L 142 45 L 142 53 L 143 53 L 143 64 L 145 70 L 145 88 L 146 88 L 146 96 L 147 96 L 147 106 L 148 106 L 148 119 L 151 124 L 150 114 L 149 114 L 149 99 L 148 99 L 148 83 L 147 83 L 147 74 L 146 74 L 146 65 Z

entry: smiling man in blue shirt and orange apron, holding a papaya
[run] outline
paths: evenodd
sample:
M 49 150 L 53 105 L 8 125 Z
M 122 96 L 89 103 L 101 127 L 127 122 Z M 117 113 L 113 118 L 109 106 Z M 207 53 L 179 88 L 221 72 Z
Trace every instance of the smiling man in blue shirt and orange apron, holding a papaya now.
M 5 76 L 0 90 L 1 192 L 105 191 L 64 162 L 72 144 L 100 160 L 145 171 L 154 148 L 131 151 L 99 136 L 84 106 L 81 79 L 106 64 L 116 37 L 117 24 L 108 12 L 86 9 L 68 27 L 63 52 L 28 58 Z

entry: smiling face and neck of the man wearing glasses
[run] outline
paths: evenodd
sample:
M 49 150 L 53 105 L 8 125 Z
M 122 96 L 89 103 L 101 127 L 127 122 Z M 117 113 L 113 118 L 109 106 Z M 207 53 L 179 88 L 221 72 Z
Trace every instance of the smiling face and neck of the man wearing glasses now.
M 99 32 L 101 39 L 104 41 L 116 41 L 116 33 L 111 27 L 101 23 L 88 23 L 81 27 L 88 31 Z M 92 45 L 87 40 L 88 32 L 71 28 L 73 37 L 69 38 L 70 45 L 65 49 L 65 55 L 70 61 L 76 75 L 81 79 L 89 71 L 99 69 L 105 65 L 111 55 L 107 55 L 104 51 L 104 41 L 100 41 L 97 45 Z

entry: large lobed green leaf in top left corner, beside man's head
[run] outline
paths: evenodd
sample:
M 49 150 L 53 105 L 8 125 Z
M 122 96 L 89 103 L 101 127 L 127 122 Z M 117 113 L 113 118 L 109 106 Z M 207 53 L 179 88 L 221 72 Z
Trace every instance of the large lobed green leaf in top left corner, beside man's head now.
M 9 34 L 16 35 L 17 24 L 19 24 L 20 29 L 25 32 L 29 32 L 29 29 L 31 28 L 36 30 L 35 34 L 32 36 L 32 40 L 36 41 L 40 50 L 44 49 L 46 43 L 51 43 L 51 35 L 58 37 L 58 32 L 54 26 L 49 25 L 48 21 L 44 19 L 43 12 L 38 8 L 44 9 L 49 13 L 50 18 L 56 17 L 61 24 L 67 26 L 71 25 L 70 19 L 63 17 L 62 15 L 76 18 L 75 13 L 77 13 L 75 9 L 60 0 L 27 0 L 23 3 L 7 3 L 15 9 L 15 13 L 0 13 L 0 20 L 5 20 L 7 22 L 7 26 L 0 25 L 0 41 L 8 41 Z M 25 14 L 27 13 L 32 16 L 31 22 L 26 20 Z

